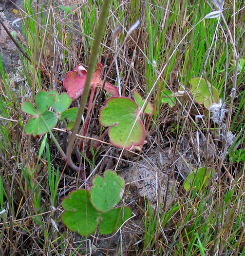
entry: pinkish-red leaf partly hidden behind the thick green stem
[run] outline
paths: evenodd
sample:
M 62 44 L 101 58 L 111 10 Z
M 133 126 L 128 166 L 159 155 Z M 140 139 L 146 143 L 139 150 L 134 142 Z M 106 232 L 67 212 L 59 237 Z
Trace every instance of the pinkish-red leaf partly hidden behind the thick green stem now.
M 102 86 L 103 81 L 100 79 L 102 68 L 102 64 L 98 63 L 91 79 L 91 87 Z M 71 98 L 75 99 L 82 95 L 86 78 L 87 71 L 82 65 L 76 66 L 74 71 L 66 73 L 63 86 Z M 108 82 L 105 83 L 105 90 L 112 94 L 112 96 L 119 96 L 117 87 Z

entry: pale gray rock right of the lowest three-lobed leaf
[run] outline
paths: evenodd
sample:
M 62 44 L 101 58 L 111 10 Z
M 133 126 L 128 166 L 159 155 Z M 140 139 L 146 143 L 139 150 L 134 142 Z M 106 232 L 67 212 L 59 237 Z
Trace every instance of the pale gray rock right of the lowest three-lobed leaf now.
M 165 197 L 167 204 L 176 198 L 178 181 L 173 175 L 176 168 L 183 171 L 183 176 L 189 172 L 182 158 L 177 155 L 172 157 L 170 148 L 165 148 L 160 157 L 159 154 L 151 153 L 118 174 L 124 177 L 126 183 L 136 186 L 139 195 L 145 197 L 154 208 L 157 203 L 163 203 Z

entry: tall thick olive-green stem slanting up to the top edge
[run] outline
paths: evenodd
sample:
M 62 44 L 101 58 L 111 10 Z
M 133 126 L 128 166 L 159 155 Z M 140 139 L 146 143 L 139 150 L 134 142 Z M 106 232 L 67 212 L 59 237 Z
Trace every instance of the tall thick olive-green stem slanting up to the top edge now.
M 88 69 L 88 73 L 87 73 L 87 78 L 85 81 L 85 87 L 84 87 L 84 91 L 83 91 L 83 95 L 80 99 L 80 107 L 78 109 L 78 113 L 75 119 L 75 124 L 73 127 L 73 131 L 72 131 L 72 135 L 67 147 L 67 151 L 66 151 L 66 156 L 67 159 L 71 158 L 71 154 L 72 154 L 72 150 L 73 150 L 73 146 L 74 146 L 74 141 L 75 141 L 75 136 L 76 133 L 79 129 L 80 126 L 80 122 L 81 122 L 81 117 L 82 114 L 84 113 L 84 109 L 85 109 L 85 105 L 87 103 L 88 100 L 88 96 L 89 96 L 89 91 L 90 91 L 90 82 L 92 79 L 92 75 L 95 69 L 95 65 L 97 62 L 97 55 L 99 52 L 99 46 L 100 46 L 100 42 L 102 39 L 102 36 L 104 34 L 105 31 L 105 24 L 106 24 L 106 18 L 108 16 L 108 11 L 109 11 L 109 4 L 110 4 L 110 0 L 104 0 L 103 6 L 102 6 L 102 10 L 101 10 L 101 15 L 100 15 L 100 19 L 99 19 L 99 25 L 97 28 L 97 35 L 95 37 L 94 40 L 94 47 L 92 50 L 92 53 L 90 55 L 89 58 L 89 69 Z

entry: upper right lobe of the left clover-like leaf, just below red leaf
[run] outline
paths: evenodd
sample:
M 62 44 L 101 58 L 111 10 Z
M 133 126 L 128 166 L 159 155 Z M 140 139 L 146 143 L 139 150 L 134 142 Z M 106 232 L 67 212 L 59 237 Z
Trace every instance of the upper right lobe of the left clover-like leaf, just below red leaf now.
M 54 103 L 52 104 L 52 107 L 59 114 L 67 110 L 72 104 L 72 98 L 70 98 L 67 93 L 62 93 L 61 95 L 59 95 L 57 91 L 52 90 L 49 91 L 49 94 L 55 95 L 56 98 Z

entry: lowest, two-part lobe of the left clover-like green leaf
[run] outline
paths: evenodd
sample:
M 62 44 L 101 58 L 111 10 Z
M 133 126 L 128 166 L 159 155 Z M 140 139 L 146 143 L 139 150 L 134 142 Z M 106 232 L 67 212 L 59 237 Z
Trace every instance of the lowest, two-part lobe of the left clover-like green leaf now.
M 25 126 L 26 134 L 33 134 L 33 136 L 42 135 L 48 132 L 48 129 L 53 129 L 57 124 L 57 115 L 52 111 L 46 111 L 40 117 L 32 118 Z M 46 125 L 44 124 L 46 123 Z

